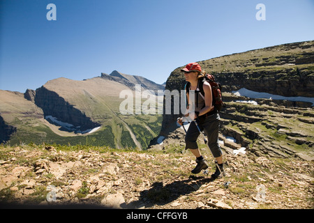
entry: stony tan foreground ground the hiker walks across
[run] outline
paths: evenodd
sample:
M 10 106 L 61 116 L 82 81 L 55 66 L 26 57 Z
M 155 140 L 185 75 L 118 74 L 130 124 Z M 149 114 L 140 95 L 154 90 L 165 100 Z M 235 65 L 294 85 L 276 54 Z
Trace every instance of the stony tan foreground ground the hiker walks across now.
M 226 179 L 191 175 L 189 152 L 70 146 L 0 147 L 0 202 L 103 208 L 313 208 L 313 161 L 225 153 Z

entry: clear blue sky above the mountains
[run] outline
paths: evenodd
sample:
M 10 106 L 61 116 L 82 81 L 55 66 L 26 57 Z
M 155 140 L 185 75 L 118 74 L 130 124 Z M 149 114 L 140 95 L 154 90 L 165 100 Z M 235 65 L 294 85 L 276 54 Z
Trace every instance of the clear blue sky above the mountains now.
M 314 40 L 313 0 L 0 0 L 0 89 L 113 70 L 162 84 L 190 62 L 305 40 Z

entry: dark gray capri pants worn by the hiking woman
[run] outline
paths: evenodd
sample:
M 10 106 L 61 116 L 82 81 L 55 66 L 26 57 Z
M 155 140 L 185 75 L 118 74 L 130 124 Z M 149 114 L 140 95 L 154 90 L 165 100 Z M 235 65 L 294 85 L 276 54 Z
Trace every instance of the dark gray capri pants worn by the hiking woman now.
M 223 155 L 220 146 L 218 144 L 218 132 L 220 127 L 220 116 L 218 113 L 207 116 L 206 118 L 198 118 L 198 127 L 200 130 L 204 130 L 207 135 L 207 144 L 213 153 L 214 157 L 220 157 Z M 186 132 L 186 149 L 197 149 L 197 137 L 200 135 L 200 131 L 194 122 L 190 123 L 190 127 Z

